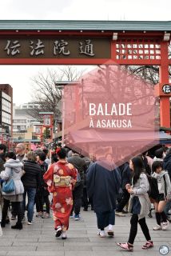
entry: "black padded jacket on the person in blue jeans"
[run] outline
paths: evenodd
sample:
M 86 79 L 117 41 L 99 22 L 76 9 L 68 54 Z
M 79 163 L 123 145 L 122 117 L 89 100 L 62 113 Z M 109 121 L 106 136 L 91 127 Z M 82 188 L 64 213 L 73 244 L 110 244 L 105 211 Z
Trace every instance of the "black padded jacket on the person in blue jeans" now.
M 26 160 L 24 161 L 24 170 L 26 173 L 22 176 L 23 185 L 31 188 L 39 188 L 42 170 L 38 163 Z

